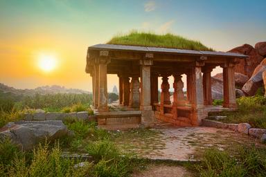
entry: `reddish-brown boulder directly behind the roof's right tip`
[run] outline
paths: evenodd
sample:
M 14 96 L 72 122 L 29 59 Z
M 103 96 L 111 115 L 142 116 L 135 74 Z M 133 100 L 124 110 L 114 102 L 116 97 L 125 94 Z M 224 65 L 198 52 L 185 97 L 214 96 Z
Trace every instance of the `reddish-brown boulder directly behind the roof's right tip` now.
M 260 62 L 263 60 L 263 56 L 259 55 L 256 52 L 256 49 L 249 44 L 238 46 L 229 50 L 228 52 L 240 53 L 249 56 L 247 59 L 236 59 L 238 64 L 236 64 L 235 67 L 236 73 L 242 73 L 243 75 L 247 75 L 248 77 L 251 77 L 256 66 L 258 66 L 258 64 L 260 64 Z

